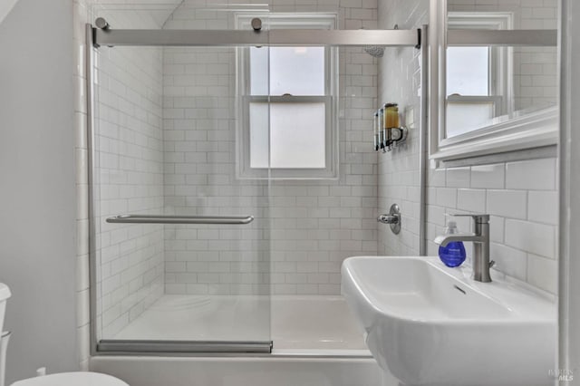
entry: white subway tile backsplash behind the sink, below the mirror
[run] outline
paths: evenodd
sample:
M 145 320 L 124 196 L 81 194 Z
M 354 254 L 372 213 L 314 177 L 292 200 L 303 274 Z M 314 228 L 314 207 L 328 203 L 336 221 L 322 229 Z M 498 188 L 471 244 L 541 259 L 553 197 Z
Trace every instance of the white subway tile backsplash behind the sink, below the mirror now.
M 556 167 L 556 159 L 548 158 L 430 170 L 429 255 L 437 255 L 432 240 L 444 232 L 446 214 L 488 213 L 494 269 L 556 294 Z M 456 220 L 459 231 L 471 231 L 469 218 Z

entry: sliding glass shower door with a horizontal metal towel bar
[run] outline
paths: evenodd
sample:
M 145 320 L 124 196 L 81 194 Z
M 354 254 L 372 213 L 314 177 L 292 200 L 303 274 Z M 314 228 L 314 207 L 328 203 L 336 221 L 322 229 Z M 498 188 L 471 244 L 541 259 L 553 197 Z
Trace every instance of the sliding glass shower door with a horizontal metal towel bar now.
M 208 23 L 181 11 L 163 28 Z M 269 113 L 240 90 L 247 48 L 93 54 L 98 351 L 270 352 L 269 169 L 240 170 L 240 132 Z

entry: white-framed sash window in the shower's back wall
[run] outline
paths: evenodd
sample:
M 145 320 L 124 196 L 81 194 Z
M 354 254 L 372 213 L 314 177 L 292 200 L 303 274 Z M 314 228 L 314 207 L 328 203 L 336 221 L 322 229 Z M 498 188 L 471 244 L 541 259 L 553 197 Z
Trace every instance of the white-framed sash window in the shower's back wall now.
M 238 15 L 239 28 L 251 16 Z M 332 14 L 267 14 L 263 29 L 333 29 Z M 250 47 L 238 52 L 239 178 L 337 175 L 335 50 Z

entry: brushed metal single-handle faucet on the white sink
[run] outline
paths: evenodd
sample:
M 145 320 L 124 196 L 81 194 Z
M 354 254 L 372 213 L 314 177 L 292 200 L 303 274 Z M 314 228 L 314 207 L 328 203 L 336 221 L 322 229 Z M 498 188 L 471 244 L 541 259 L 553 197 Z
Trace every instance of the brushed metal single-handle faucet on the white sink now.
M 495 262 L 489 261 L 489 215 L 451 215 L 454 217 L 472 217 L 474 233 L 451 234 L 435 237 L 435 243 L 447 246 L 454 241 L 471 241 L 473 243 L 473 280 L 489 283 L 489 268 Z

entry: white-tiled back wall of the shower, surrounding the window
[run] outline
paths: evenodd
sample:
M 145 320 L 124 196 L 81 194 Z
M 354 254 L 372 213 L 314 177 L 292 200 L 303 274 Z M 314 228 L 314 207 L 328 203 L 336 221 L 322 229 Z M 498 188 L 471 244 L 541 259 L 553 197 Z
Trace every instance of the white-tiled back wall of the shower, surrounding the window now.
M 206 6 L 186 1 L 164 27 L 233 27 L 231 14 L 204 11 Z M 376 6 L 373 0 L 301 5 L 281 1 L 269 10 L 338 12 L 339 28 L 372 29 Z M 168 293 L 237 294 L 255 292 L 256 285 L 268 291 L 271 282 L 274 294 L 340 294 L 343 258 L 376 255 L 377 165 L 369 130 L 376 101 L 376 60 L 362 48 L 341 49 L 339 56 L 340 119 L 335 128 L 340 139 L 339 179 L 274 180 L 268 187 L 237 180 L 235 175 L 235 51 L 165 51 L 166 210 L 257 215 L 256 225 L 243 230 L 167 228 Z M 268 242 L 262 225 L 266 199 L 269 256 L 259 246 L 260 240 Z M 253 262 L 256 253 L 264 258 Z

